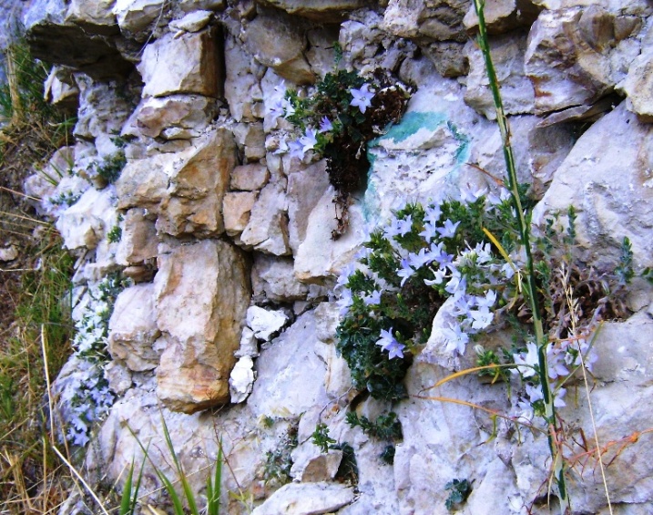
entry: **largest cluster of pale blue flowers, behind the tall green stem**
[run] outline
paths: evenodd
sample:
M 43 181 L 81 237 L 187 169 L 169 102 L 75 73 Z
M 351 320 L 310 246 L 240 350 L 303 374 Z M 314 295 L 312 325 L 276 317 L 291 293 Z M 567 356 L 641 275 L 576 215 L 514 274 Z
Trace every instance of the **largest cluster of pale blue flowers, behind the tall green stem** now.
M 522 205 L 530 209 L 532 201 L 524 197 Z M 479 335 L 507 322 L 521 327 L 517 333 L 524 339 L 503 349 L 503 360 L 481 345 L 474 348 L 483 358 L 480 365 L 515 364 L 513 374 L 524 385 L 518 397 L 520 416 L 542 413 L 539 349 L 521 284 L 525 252 L 511 225 L 514 220 L 507 191 L 497 195 L 467 189 L 459 200 L 435 201 L 426 207 L 408 204 L 371 233 L 358 266 L 343 270 L 336 284 L 342 315 L 338 348 L 352 370 L 354 386 L 367 388 L 372 397 L 401 398 L 402 386 L 397 383 L 403 380 L 411 355 L 429 338 L 434 315 L 446 306 L 450 316 L 439 331 L 444 350 L 451 355 L 464 355 Z M 573 233 L 573 227 L 568 232 Z M 552 238 L 550 232 L 545 234 L 536 247 L 555 246 Z M 562 240 L 557 244 L 571 242 L 568 235 Z M 558 274 L 561 278 L 556 280 L 548 265 L 542 265 L 537 276 L 549 306 L 545 322 L 550 343 L 543 349 L 546 372 L 556 406 L 564 406 L 562 384 L 577 367 L 591 369 L 597 359 L 588 342 L 600 314 L 592 316 L 593 322 L 583 322 L 585 308 L 577 307 L 577 331 L 559 322 L 560 316 L 570 317 L 569 309 L 554 301 L 560 290 L 565 284 L 587 281 L 574 279 L 568 271 L 568 250 L 545 257 L 544 263 L 559 263 L 564 275 Z M 497 369 L 495 376 L 510 375 Z

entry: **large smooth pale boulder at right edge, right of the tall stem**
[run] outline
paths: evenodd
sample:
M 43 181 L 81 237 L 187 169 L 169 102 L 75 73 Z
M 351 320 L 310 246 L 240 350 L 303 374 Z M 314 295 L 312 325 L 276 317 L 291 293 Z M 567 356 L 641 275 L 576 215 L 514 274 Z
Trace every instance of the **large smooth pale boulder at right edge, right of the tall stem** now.
M 542 221 L 545 213 L 564 214 L 573 205 L 577 242 L 586 250 L 588 262 L 611 268 L 627 236 L 635 263 L 653 265 L 648 237 L 653 228 L 651 138 L 651 127 L 639 122 L 622 102 L 578 139 L 536 206 L 534 220 Z

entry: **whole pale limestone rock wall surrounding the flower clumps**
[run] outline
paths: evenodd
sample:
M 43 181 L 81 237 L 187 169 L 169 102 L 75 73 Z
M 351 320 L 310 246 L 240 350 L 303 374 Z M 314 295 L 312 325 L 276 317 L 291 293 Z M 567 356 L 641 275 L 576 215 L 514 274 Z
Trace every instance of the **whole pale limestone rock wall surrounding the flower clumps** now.
M 471 2 L 24 4 L 30 45 L 56 65 L 48 98 L 77 106 L 74 140 L 35 167 L 26 192 L 76 254 L 76 320 L 106 324 L 95 334 L 110 362 L 76 355 L 53 388 L 67 419 L 89 374 L 115 394 L 88 433 L 94 441 L 81 469 L 89 481 L 106 478 L 119 490 L 125 469 L 141 462 L 138 438 L 151 458 L 138 510 L 168 510 L 155 472 L 177 479 L 164 421 L 200 510 L 220 445 L 221 508 L 234 515 L 445 515 L 453 479 L 473 487 L 454 507 L 459 513 L 556 509 L 553 497 L 546 504 L 546 427 L 514 423 L 516 376 L 511 395 L 472 373 L 432 388 L 476 364 L 473 345 L 464 355 L 445 352 L 453 302 L 434 316 L 426 344 L 413 348 L 409 397 L 392 407 L 352 386 L 337 347 L 339 275 L 364 255 L 379 224 L 407 201 L 496 195 L 505 180 Z M 653 7 L 485 4 L 518 180 L 538 202 L 534 221 L 557 212 L 565 221 L 573 205 L 576 251 L 597 273 L 614 269 L 625 236 L 632 247 L 635 277 L 624 300 L 632 315 L 602 325 L 590 393 L 574 377 L 558 410 L 575 431 L 560 436 L 570 513 L 609 511 L 591 458 L 589 395 L 614 510 L 648 514 L 653 291 L 640 275 L 653 268 Z M 329 163 L 314 147 L 302 159 L 283 152 L 301 135 L 279 106 L 287 90 L 306 98 L 336 69 L 367 82 L 400 79 L 411 98 L 403 117 L 360 149 L 370 170 L 349 199 L 349 228 L 333 239 Z M 113 183 L 98 177 L 111 162 L 124 162 Z M 16 252 L 0 242 L 6 266 Z M 132 282 L 113 292 L 110 316 L 87 313 L 87 292 L 118 275 Z M 375 421 L 388 409 L 402 438 L 347 422 L 352 414 Z M 321 448 L 320 438 L 332 444 Z

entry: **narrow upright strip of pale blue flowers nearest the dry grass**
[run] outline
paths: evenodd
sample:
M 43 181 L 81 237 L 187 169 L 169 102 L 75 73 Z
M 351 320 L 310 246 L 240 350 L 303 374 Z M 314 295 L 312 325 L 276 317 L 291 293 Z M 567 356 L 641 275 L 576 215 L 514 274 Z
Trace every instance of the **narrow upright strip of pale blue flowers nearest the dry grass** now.
M 76 324 L 73 340 L 75 354 L 86 362 L 77 374 L 76 394 L 67 420 L 66 438 L 77 446 L 85 446 L 93 422 L 105 417 L 116 398 L 104 376 L 108 360 L 108 322 L 117 294 L 127 285 L 117 274 L 110 274 L 87 294 L 87 304 Z

